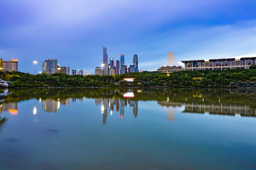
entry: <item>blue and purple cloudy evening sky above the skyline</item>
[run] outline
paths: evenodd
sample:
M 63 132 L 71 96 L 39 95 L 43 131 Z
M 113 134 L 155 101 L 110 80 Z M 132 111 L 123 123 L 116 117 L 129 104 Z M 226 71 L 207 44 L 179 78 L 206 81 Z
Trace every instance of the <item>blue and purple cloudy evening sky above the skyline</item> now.
M 0 0 L 0 58 L 18 71 L 47 59 L 94 74 L 108 59 L 157 70 L 181 60 L 256 56 L 256 0 Z

